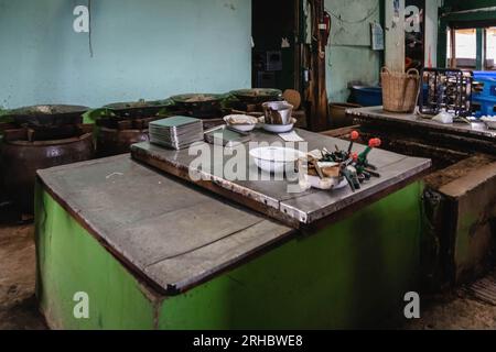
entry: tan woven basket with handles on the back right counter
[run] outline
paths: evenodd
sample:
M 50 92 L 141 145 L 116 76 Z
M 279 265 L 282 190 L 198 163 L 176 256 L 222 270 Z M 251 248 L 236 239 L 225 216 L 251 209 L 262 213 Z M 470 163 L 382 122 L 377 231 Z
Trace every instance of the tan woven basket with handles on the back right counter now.
M 420 74 L 409 69 L 406 74 L 391 73 L 384 67 L 380 73 L 382 80 L 384 110 L 391 112 L 413 112 L 420 89 Z

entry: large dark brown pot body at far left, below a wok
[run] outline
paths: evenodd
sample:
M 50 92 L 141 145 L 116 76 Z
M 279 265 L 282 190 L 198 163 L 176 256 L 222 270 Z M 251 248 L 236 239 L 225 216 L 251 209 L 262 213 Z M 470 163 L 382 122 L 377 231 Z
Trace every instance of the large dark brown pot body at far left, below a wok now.
M 36 170 L 90 160 L 93 134 L 48 142 L 11 141 L 1 145 L 2 176 L 9 199 L 33 213 Z

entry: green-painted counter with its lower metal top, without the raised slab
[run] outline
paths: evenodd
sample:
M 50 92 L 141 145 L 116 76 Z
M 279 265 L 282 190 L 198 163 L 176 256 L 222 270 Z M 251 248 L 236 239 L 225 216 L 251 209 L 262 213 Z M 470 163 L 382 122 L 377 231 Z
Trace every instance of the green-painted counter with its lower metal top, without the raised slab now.
M 37 298 L 64 329 L 332 329 L 418 288 L 422 184 L 310 235 L 129 155 L 39 173 Z M 74 316 L 75 294 L 89 318 Z

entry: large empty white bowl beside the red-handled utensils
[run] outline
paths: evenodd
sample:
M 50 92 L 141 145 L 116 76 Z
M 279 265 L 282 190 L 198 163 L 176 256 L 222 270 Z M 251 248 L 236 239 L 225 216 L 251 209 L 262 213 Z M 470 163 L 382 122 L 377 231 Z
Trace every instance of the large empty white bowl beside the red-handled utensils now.
M 280 174 L 292 169 L 299 158 L 305 157 L 303 152 L 281 146 L 257 147 L 250 151 L 255 164 L 262 170 Z

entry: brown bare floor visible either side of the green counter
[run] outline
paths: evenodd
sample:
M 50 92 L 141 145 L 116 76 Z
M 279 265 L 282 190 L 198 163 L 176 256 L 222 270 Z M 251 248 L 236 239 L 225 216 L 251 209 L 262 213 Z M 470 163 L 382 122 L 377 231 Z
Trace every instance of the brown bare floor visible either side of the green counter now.
M 0 330 L 46 329 L 34 298 L 32 226 L 0 224 Z M 496 329 L 496 306 L 459 292 L 423 297 L 422 319 L 395 329 Z

